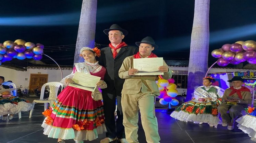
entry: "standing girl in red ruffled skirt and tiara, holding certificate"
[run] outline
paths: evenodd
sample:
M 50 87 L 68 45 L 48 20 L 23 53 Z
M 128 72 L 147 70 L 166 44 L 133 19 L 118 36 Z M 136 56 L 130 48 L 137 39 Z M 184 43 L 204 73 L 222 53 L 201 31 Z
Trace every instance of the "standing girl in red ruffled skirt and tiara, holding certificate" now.
M 101 77 L 96 85 L 99 88 L 107 88 L 103 81 L 106 69 L 95 59 L 96 56 L 100 56 L 100 50 L 83 47 L 80 53 L 85 62 L 75 64 L 73 72 L 61 82 L 65 85 L 74 83 L 72 80 L 74 73 L 81 72 Z M 106 131 L 103 104 L 100 100 L 102 95 L 101 98 L 95 96 L 99 94 L 101 93 L 98 88 L 92 93 L 67 86 L 59 94 L 52 108 L 43 113 L 46 115 L 42 124 L 44 134 L 49 138 L 58 139 L 58 143 L 64 143 L 64 140 L 68 139 L 81 143 L 83 140 L 92 141 L 98 138 L 99 133 Z

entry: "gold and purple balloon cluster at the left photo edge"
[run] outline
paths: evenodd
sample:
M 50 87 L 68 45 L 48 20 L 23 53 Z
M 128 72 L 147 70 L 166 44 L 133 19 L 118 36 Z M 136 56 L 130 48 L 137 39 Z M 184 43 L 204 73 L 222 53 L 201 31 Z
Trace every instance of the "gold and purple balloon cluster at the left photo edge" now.
M 43 49 L 44 45 L 26 42 L 23 39 L 17 39 L 14 42 L 5 41 L 3 44 L 0 43 L 0 65 L 13 58 L 41 60 Z

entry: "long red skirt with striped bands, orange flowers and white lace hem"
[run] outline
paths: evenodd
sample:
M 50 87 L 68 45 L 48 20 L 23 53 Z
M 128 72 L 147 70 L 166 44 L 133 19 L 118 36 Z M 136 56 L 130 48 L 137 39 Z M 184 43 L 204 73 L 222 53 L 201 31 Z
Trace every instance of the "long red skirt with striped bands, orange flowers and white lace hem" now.
M 42 127 L 49 138 L 75 141 L 95 140 L 106 131 L 102 101 L 95 101 L 92 92 L 67 86 L 55 100 Z

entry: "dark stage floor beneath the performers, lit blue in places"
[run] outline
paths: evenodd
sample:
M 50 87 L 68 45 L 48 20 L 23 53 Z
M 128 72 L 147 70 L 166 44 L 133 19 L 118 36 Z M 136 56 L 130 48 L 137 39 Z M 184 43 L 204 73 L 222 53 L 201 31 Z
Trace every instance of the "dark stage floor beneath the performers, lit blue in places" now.
M 43 108 L 42 104 L 36 104 L 32 118 L 28 118 L 29 112 L 22 112 L 21 119 L 17 115 L 7 122 L 0 119 L 0 143 L 56 143 L 57 139 L 48 138 L 42 134 Z M 176 121 L 163 109 L 156 109 L 156 116 L 161 143 L 253 143 L 249 136 L 236 126 L 234 130 L 229 131 L 227 127 L 221 125 L 213 128 L 207 124 Z M 139 142 L 146 143 L 141 123 L 139 123 L 138 134 Z M 97 140 L 90 143 L 99 143 L 103 138 L 105 134 L 100 134 Z M 74 143 L 73 140 L 65 142 Z

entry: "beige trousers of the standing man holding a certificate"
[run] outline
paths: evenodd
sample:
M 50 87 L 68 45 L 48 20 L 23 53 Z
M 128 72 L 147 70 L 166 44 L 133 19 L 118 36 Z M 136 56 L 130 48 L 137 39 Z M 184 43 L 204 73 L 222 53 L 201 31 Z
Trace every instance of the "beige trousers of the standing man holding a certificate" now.
M 147 143 L 159 143 L 157 117 L 155 116 L 155 94 L 122 94 L 123 125 L 129 143 L 138 143 L 138 110 Z

